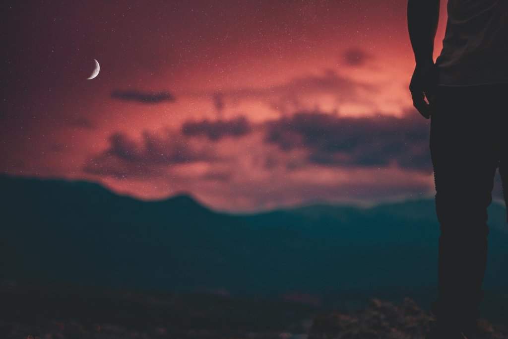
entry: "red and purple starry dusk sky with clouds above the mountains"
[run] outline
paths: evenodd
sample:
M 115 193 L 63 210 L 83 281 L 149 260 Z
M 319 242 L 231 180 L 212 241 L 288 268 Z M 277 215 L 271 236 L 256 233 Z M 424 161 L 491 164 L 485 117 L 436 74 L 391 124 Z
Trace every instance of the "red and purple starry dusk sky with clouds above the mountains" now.
M 2 173 L 225 211 L 434 194 L 405 1 L 1 10 Z

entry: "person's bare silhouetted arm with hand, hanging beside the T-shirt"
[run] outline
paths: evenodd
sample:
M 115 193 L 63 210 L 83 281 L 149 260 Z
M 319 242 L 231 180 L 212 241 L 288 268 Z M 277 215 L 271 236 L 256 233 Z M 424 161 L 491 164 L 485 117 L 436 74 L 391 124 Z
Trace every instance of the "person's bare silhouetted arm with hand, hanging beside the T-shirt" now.
M 432 54 L 438 21 L 439 0 L 408 0 L 407 28 L 416 61 L 409 90 L 413 105 L 427 119 L 430 117 L 430 110 L 425 96 L 430 103 L 437 83 L 437 70 Z

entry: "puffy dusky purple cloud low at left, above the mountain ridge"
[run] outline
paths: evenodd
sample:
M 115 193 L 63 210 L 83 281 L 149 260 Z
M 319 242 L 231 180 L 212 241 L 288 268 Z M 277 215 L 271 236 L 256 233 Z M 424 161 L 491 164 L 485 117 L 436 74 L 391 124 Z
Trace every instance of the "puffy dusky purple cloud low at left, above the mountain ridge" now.
M 109 148 L 84 165 L 85 172 L 122 178 L 151 176 L 162 175 L 159 165 L 219 160 L 209 145 L 178 132 L 157 135 L 145 131 L 141 141 L 116 132 L 109 137 L 109 142 Z

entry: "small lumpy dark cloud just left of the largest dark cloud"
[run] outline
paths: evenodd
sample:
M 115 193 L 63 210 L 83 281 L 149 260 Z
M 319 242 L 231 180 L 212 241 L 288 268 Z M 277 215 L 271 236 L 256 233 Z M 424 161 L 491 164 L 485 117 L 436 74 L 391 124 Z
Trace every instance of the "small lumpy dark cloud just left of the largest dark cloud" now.
M 226 136 L 240 137 L 251 132 L 251 125 L 245 116 L 231 120 L 218 119 L 210 121 L 186 121 L 182 125 L 182 133 L 186 136 L 207 136 L 209 140 L 219 140 Z

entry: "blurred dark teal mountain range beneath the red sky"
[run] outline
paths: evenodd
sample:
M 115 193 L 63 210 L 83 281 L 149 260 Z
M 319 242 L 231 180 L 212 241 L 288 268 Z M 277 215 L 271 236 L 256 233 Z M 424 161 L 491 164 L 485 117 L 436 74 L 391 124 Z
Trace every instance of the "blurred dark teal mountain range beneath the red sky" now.
M 0 278 L 237 295 L 432 290 L 434 201 L 215 212 L 85 181 L 0 177 Z M 508 286 L 504 206 L 489 207 L 484 287 Z M 363 291 L 363 292 L 362 292 Z

